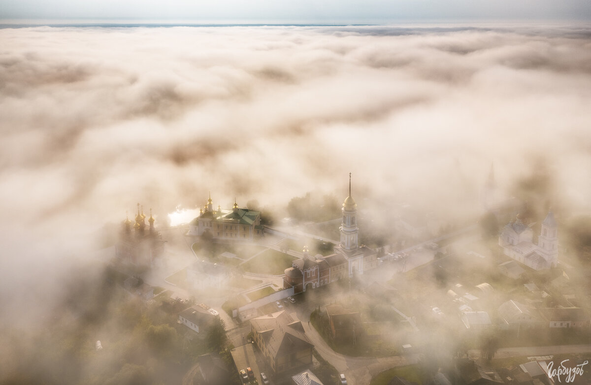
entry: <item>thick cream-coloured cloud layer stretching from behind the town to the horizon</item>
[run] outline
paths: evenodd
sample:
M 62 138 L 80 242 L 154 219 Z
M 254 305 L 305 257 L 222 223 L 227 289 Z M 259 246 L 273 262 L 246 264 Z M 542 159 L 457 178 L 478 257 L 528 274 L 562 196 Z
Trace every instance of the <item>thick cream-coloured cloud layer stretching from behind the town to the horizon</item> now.
M 85 237 L 138 201 L 164 220 L 209 191 L 222 206 L 282 206 L 316 189 L 344 198 L 349 172 L 359 199 L 451 215 L 475 210 L 491 163 L 502 187 L 543 164 L 562 204 L 587 212 L 590 37 L 540 26 L 2 29 L 2 276 L 20 290 L 34 275 L 22 266 L 43 270 L 72 238 L 79 248 L 59 260 L 84 258 Z

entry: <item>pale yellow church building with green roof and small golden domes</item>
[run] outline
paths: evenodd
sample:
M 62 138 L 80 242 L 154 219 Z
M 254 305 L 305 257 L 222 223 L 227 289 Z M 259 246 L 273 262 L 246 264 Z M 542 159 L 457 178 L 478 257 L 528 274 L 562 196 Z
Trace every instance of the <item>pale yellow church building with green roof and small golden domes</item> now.
M 234 202 L 231 210 L 219 205 L 213 209 L 212 197 L 209 196 L 199 216 L 189 224 L 188 235 L 209 233 L 216 240 L 252 241 L 262 235 L 261 213 L 239 208 Z

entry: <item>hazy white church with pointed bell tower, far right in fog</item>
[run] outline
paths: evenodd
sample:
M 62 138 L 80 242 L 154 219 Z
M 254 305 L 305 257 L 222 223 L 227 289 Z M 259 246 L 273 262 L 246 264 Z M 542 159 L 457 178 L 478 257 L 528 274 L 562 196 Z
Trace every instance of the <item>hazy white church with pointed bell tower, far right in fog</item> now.
M 538 244 L 533 242 L 534 232 L 521 222 L 519 215 L 515 222 L 509 222 L 499 235 L 499 246 L 505 255 L 529 266 L 534 270 L 544 270 L 558 263 L 558 224 L 552 211 L 542 222 Z

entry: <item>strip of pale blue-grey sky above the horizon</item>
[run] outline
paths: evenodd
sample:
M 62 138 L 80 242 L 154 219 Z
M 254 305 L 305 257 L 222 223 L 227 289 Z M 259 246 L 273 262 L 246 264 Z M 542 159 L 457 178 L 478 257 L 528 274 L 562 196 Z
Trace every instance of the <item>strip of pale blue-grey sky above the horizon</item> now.
M 1 19 L 193 22 L 589 21 L 587 0 L 1 0 Z

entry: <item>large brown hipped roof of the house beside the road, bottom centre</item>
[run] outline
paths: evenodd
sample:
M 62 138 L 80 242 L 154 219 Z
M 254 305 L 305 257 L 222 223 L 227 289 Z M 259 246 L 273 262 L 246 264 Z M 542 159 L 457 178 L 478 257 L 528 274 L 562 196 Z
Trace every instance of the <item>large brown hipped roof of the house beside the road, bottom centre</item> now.
M 301 322 L 291 318 L 285 310 L 251 319 L 251 326 L 261 334 L 273 357 L 314 347 L 306 337 Z

